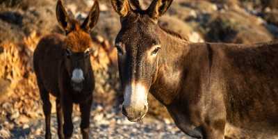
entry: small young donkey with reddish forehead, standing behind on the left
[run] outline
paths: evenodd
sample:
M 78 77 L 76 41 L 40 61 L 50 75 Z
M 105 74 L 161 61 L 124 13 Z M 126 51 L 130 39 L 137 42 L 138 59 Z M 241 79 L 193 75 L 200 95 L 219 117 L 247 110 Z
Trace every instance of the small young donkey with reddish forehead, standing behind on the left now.
M 88 32 L 97 23 L 99 4 L 95 1 L 88 17 L 83 24 L 79 24 L 67 15 L 62 2 L 58 0 L 56 17 L 66 36 L 45 36 L 40 40 L 33 57 L 46 123 L 45 138 L 51 138 L 49 92 L 56 97 L 59 138 L 72 136 L 73 103 L 79 104 L 80 107 L 83 138 L 89 138 L 95 79 L 90 63 L 90 53 L 94 48 Z

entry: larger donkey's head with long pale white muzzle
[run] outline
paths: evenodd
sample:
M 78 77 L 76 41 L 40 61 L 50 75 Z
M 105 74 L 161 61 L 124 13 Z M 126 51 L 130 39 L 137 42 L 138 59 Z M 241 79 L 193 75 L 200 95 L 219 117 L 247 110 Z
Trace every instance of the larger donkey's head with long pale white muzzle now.
M 136 0 L 111 0 L 120 15 L 122 28 L 117 34 L 120 79 L 124 90 L 122 113 L 138 121 L 148 110 L 147 95 L 156 79 L 161 40 L 158 17 L 170 7 L 172 0 L 154 0 L 147 10 Z

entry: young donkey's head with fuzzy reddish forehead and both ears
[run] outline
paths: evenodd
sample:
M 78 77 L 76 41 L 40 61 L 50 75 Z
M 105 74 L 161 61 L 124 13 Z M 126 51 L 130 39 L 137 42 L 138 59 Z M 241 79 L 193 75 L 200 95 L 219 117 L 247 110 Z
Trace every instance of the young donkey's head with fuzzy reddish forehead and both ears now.
M 58 0 L 56 17 L 66 33 L 65 43 L 63 44 L 65 68 L 70 76 L 72 88 L 76 92 L 81 92 L 83 81 L 90 76 L 88 75 L 91 70 L 90 54 L 94 51 L 94 48 L 92 47 L 89 31 L 97 24 L 99 4 L 95 1 L 88 17 L 83 24 L 79 24 L 78 21 L 67 15 L 63 3 Z

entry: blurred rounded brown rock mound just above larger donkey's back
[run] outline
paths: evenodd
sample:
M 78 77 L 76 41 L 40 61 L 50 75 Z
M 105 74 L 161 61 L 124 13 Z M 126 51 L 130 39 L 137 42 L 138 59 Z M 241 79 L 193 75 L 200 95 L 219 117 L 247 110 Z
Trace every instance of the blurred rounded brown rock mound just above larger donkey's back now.
M 256 43 L 273 39 L 261 19 L 234 10 L 215 13 L 208 24 L 206 40 L 209 42 Z M 255 33 L 255 35 L 254 35 Z

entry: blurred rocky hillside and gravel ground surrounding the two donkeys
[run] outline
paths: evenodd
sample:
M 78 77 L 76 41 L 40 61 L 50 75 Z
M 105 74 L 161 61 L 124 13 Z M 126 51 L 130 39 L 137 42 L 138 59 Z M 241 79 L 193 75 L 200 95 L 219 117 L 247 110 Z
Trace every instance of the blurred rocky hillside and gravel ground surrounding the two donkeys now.
M 122 92 L 113 47 L 120 18 L 111 1 L 99 0 L 100 17 L 91 35 L 99 53 L 92 56 L 96 88 L 92 106 L 92 138 L 188 138 L 174 126 L 165 108 L 149 95 L 147 118 L 132 123 L 120 113 Z M 141 0 L 147 8 L 151 0 Z M 83 21 L 93 0 L 64 0 L 65 7 Z M 56 22 L 56 0 L 0 0 L 0 138 L 43 138 L 42 102 L 33 72 L 33 50 L 42 36 L 63 33 Z M 256 43 L 278 37 L 278 0 L 174 0 L 161 17 L 161 26 L 190 42 Z M 52 100 L 52 133 L 56 115 Z M 74 107 L 74 136 L 79 131 L 79 108 Z M 229 138 L 248 131 L 229 131 Z

